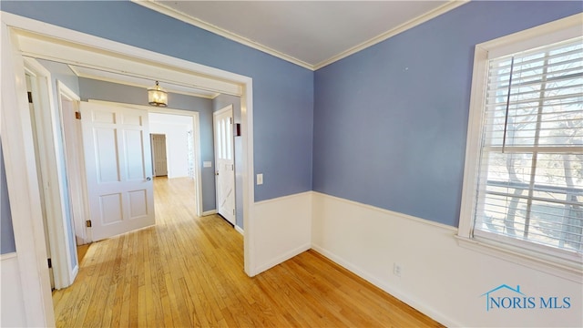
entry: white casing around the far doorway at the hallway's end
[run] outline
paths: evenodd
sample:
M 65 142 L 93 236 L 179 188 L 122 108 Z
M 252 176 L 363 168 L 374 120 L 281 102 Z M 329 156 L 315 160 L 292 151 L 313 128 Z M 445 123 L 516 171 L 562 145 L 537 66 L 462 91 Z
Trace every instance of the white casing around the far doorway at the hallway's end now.
M 202 163 L 200 162 L 200 114 L 199 111 L 196 110 L 184 110 L 184 109 L 174 109 L 174 108 L 158 108 L 158 107 L 151 107 L 151 106 L 144 106 L 144 105 L 135 105 L 135 104 L 128 104 L 128 103 L 119 103 L 114 101 L 106 101 L 106 100 L 96 100 L 96 99 L 87 99 L 87 102 L 96 103 L 96 104 L 103 104 L 103 105 L 112 105 L 112 106 L 122 106 L 122 107 L 129 107 L 129 108 L 139 108 L 147 110 L 148 113 L 159 113 L 159 114 L 170 114 L 170 115 L 180 115 L 180 116 L 187 116 L 192 118 L 192 129 L 195 133 L 192 133 L 193 138 L 193 145 L 194 145 L 194 175 L 196 179 L 194 179 L 194 189 L 195 189 L 195 197 L 196 197 L 196 204 L 197 204 L 197 216 L 204 216 L 204 212 L 202 212 Z

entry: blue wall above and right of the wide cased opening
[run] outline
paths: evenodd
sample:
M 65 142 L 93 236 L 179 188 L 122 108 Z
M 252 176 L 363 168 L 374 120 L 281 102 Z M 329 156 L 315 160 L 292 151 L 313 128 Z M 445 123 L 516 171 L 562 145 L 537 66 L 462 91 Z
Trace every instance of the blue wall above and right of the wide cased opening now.
M 313 72 L 128 1 L 2 1 L 3 11 L 253 78 L 255 200 L 312 190 Z

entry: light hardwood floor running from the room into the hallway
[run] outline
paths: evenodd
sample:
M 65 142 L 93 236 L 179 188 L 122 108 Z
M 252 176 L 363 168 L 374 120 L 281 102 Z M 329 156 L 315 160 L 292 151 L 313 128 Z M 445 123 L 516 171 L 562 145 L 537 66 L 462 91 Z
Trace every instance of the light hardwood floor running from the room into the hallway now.
M 242 236 L 196 216 L 192 182 L 154 183 L 157 225 L 91 244 L 53 293 L 58 327 L 441 326 L 315 251 L 249 278 Z

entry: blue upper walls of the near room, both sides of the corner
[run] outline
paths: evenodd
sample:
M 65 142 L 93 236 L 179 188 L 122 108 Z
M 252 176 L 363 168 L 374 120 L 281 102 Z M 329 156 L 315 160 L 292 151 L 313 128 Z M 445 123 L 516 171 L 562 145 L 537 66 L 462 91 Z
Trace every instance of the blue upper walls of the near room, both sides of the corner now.
M 255 200 L 316 190 L 451 226 L 474 46 L 583 11 L 580 2 L 473 1 L 313 73 L 126 1 L 0 5 L 252 77 L 255 170 L 265 176 Z

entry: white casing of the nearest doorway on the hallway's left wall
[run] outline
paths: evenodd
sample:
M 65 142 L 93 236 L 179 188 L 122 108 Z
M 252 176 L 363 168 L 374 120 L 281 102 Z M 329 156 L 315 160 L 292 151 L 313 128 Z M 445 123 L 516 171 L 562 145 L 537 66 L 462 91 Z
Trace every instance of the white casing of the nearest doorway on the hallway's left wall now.
M 62 162 L 58 160 L 56 131 L 57 120 L 60 119 L 58 109 L 53 101 L 53 85 L 51 73 L 40 65 L 36 59 L 25 59 L 25 69 L 31 76 L 33 87 L 33 104 L 35 108 L 36 133 L 38 135 L 38 157 L 43 183 L 41 194 L 45 196 L 46 229 L 49 236 L 51 262 L 54 273 L 55 288 L 65 288 L 75 280 L 78 263 L 73 265 L 69 250 L 75 247 L 75 240 L 69 237 L 66 221 L 66 202 L 69 195 L 65 194 L 66 177 L 63 176 Z M 33 80 L 34 79 L 34 80 Z M 70 191 L 70 190 L 69 190 Z M 70 192 L 69 192 L 70 193 Z M 71 218 L 72 220 L 72 218 Z M 73 223 L 73 222 L 71 222 Z M 72 244 L 72 245 L 71 245 Z M 77 253 L 74 254 L 77 257 Z

